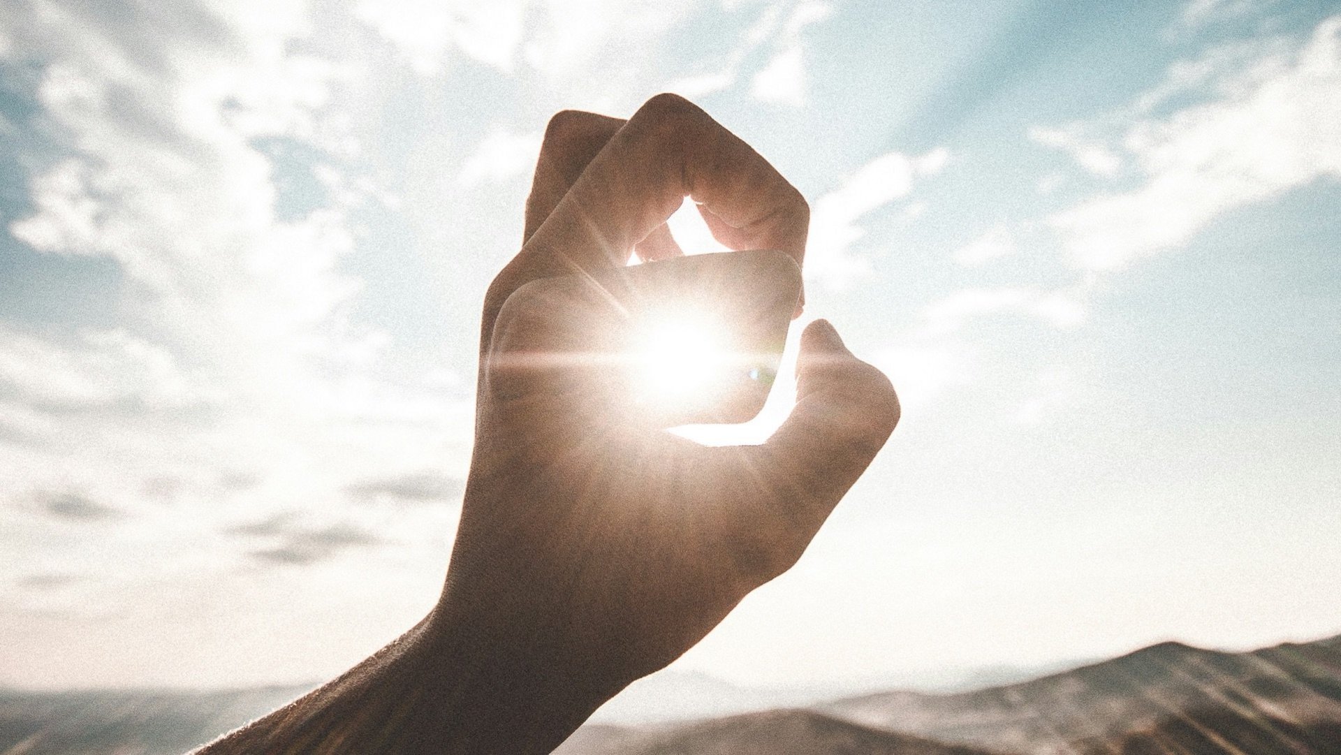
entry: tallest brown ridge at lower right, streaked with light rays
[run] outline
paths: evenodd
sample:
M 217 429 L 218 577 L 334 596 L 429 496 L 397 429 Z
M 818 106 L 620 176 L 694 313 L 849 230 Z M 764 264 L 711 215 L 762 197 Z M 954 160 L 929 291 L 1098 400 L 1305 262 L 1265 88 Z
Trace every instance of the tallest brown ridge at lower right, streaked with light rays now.
M 1248 653 L 1161 642 L 1018 684 L 953 695 L 885 692 L 818 709 L 881 730 L 1030 755 L 1163 752 L 1141 750 L 1143 743 L 1188 739 L 1206 728 L 1195 716 L 1235 731 L 1270 730 L 1273 721 L 1330 731 L 1341 723 L 1341 637 Z M 1206 739 L 1216 742 L 1214 732 Z M 1187 751 L 1258 752 L 1218 747 Z

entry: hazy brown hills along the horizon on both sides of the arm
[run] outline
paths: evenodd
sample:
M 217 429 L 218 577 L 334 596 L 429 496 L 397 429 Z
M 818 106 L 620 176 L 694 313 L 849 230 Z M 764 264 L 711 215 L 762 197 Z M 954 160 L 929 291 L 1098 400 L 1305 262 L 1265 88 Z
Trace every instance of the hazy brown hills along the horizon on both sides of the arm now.
M 0 691 L 0 755 L 180 755 L 304 689 Z M 589 724 L 557 754 L 1341 755 L 1341 636 L 1251 653 L 1163 642 L 975 692 Z

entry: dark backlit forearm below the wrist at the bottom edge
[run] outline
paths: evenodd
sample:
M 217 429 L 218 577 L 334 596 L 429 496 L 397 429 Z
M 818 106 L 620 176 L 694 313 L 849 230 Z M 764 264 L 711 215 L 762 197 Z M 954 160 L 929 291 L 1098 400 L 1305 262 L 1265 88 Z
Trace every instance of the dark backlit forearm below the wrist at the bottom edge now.
M 339 679 L 196 755 L 544 754 L 606 697 L 542 653 L 434 614 Z

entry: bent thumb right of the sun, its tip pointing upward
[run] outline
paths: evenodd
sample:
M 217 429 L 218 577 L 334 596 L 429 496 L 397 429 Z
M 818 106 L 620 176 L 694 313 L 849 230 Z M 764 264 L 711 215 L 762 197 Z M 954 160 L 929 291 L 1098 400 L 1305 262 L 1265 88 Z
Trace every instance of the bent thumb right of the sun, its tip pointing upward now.
M 797 408 L 764 445 L 740 449 L 740 476 L 754 477 L 742 502 L 752 520 L 774 522 L 790 566 L 898 424 L 889 380 L 848 350 L 826 321 L 801 337 Z

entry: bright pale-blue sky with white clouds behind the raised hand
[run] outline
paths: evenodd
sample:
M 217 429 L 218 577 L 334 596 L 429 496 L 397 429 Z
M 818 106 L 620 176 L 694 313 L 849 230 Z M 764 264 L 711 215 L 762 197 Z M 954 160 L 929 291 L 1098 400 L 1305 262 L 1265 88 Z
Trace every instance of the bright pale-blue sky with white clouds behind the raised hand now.
M 1341 3 L 7 0 L 0 685 L 320 680 L 422 617 L 544 125 L 660 91 L 807 197 L 807 316 L 904 405 L 673 669 L 1341 632 Z

